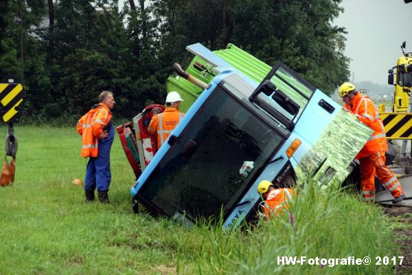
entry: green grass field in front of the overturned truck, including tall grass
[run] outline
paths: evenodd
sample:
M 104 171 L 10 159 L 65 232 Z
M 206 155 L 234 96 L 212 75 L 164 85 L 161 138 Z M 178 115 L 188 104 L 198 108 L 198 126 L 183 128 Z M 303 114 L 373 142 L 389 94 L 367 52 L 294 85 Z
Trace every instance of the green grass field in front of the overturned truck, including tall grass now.
M 0 128 L 6 133 L 6 128 Z M 16 126 L 13 186 L 0 188 L 0 274 L 394 274 L 393 265 L 277 265 L 277 256 L 400 256 L 378 206 L 346 192 L 299 193 L 290 212 L 253 228 L 189 228 L 131 211 L 134 175 L 119 139 L 111 203 L 71 184 L 86 161 L 73 128 Z M 310 185 L 309 185 L 310 186 Z M 291 223 L 290 218 L 293 218 Z

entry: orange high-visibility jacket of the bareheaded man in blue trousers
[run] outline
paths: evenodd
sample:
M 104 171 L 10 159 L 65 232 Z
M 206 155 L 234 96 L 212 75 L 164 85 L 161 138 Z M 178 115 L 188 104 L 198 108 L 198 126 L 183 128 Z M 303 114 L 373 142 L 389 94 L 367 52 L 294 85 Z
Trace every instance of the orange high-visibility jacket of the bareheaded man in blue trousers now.
M 98 157 L 98 137 L 102 135 L 104 128 L 112 117 L 108 107 L 99 103 L 82 116 L 77 124 L 77 131 L 82 135 L 82 157 Z

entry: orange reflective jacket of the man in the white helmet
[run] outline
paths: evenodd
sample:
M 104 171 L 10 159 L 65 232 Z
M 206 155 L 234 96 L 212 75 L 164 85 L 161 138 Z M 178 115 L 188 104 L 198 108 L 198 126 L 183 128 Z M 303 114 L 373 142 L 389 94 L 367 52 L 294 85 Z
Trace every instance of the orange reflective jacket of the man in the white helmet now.
M 183 118 L 185 113 L 179 112 L 176 108 L 166 108 L 163 113 L 155 115 L 148 126 L 148 132 L 152 135 L 157 133 L 157 148 L 168 139 L 174 127 Z

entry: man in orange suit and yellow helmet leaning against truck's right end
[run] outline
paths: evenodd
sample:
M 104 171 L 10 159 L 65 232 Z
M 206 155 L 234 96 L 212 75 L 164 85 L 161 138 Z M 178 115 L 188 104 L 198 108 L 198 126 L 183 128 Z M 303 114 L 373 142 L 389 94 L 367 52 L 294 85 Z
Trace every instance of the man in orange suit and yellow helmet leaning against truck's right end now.
M 395 174 L 385 165 L 385 152 L 388 150 L 385 129 L 379 118 L 378 110 L 374 102 L 355 90 L 352 83 L 343 83 L 339 87 L 339 96 L 345 105 L 344 109 L 356 115 L 365 125 L 369 126 L 372 133 L 365 146 L 356 155 L 361 163 L 361 188 L 364 201 L 374 202 L 375 199 L 375 175 L 394 197 L 393 203 L 399 203 L 405 198 L 404 191 Z

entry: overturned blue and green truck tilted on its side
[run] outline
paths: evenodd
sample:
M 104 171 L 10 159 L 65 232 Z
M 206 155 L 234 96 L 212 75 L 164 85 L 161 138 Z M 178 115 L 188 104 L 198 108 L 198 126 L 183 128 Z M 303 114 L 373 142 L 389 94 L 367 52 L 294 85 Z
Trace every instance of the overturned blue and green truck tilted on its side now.
M 231 44 L 187 50 L 185 72 L 167 85 L 187 112 L 159 151 L 142 145 L 150 108 L 137 115 L 134 129 L 118 127 L 135 162 L 135 211 L 139 202 L 155 214 L 223 219 L 231 228 L 256 217 L 263 179 L 295 186 L 311 178 L 336 188 L 351 173 L 371 135 L 354 115 L 281 62 L 270 67 Z

